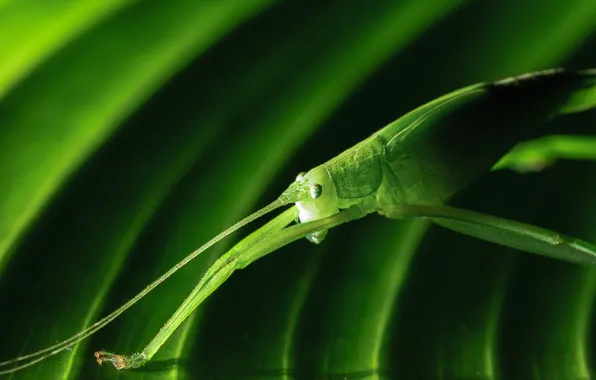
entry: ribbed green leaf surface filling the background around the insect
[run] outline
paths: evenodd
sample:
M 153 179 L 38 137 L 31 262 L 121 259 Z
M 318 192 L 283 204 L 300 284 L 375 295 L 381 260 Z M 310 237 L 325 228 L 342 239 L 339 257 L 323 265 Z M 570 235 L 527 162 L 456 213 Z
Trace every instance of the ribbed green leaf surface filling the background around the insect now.
M 300 171 L 480 81 L 596 67 L 594 0 L 0 0 L 0 344 L 61 341 Z M 546 130 L 594 134 L 596 112 Z M 490 142 L 488 142 L 490 143 Z M 596 242 L 596 163 L 453 203 Z M 261 224 L 262 221 L 256 222 Z M 232 276 L 140 351 L 206 252 L 13 379 L 588 379 L 596 269 L 371 215 Z

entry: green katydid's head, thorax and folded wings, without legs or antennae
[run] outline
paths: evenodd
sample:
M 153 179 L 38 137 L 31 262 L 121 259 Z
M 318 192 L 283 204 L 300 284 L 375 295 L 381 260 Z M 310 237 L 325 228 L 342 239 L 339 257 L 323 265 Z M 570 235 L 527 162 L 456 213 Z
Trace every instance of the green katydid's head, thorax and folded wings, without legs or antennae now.
M 466 87 L 300 175 L 282 199 L 296 202 L 301 222 L 350 207 L 354 217 L 376 211 L 399 218 L 404 217 L 404 205 L 440 206 L 552 118 L 553 107 L 565 110 L 573 95 L 593 81 L 593 72 L 547 70 Z M 544 91 L 551 96 L 545 99 Z M 528 119 L 519 121 L 516 103 L 528 106 Z M 570 110 L 574 108 L 566 112 Z M 491 145 L 483 144 L 487 138 Z M 465 162 L 470 156 L 474 161 Z M 314 186 L 322 189 L 322 196 L 309 199 L 308 189 Z M 325 234 L 307 238 L 319 243 Z

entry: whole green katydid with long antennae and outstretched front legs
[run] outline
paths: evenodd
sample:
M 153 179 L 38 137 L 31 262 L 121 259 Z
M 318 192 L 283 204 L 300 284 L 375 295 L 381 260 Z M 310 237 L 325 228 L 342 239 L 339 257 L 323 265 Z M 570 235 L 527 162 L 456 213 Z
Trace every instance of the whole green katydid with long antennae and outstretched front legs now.
M 479 239 L 561 260 L 594 264 L 596 247 L 540 227 L 445 206 L 449 198 L 491 169 L 525 165 L 538 169 L 556 156 L 595 159 L 596 144 L 567 138 L 517 148 L 557 115 L 596 107 L 596 70 L 548 70 L 465 87 L 406 114 L 339 156 L 300 173 L 277 200 L 234 224 L 188 255 L 119 309 L 73 337 L 41 351 L 0 363 L 0 374 L 31 366 L 109 324 L 174 272 L 227 235 L 272 210 L 294 203 L 222 255 L 204 274 L 154 339 L 130 356 L 98 351 L 99 364 L 117 369 L 147 363 L 176 328 L 237 269 L 306 237 L 321 243 L 328 230 L 371 213 L 388 218 L 428 218 Z M 559 148 L 561 145 L 555 145 Z M 567 148 L 565 148 L 567 147 Z M 579 149 L 576 149 L 579 148 Z M 520 150 L 521 149 L 521 150 Z M 580 156 L 577 156 L 580 152 Z M 582 153 L 583 152 L 583 153 Z M 532 166 L 532 165 L 530 165 Z M 294 222 L 297 221 L 299 223 Z

